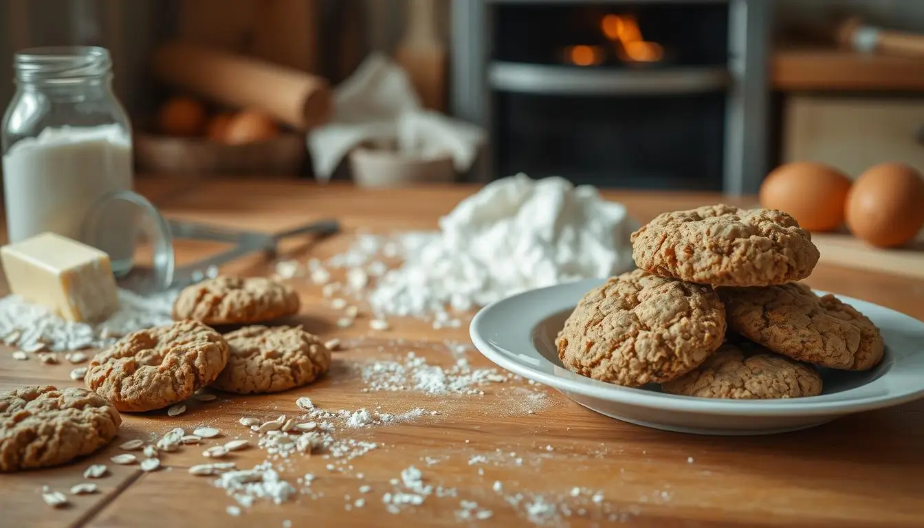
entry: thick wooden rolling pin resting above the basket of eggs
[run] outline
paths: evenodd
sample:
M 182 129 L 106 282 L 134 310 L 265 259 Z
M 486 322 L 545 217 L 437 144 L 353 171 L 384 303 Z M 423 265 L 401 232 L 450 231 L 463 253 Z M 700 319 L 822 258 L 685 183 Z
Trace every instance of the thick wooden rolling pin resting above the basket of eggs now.
M 152 55 L 152 74 L 217 103 L 261 110 L 299 130 L 317 127 L 331 115 L 327 80 L 194 43 L 161 45 Z

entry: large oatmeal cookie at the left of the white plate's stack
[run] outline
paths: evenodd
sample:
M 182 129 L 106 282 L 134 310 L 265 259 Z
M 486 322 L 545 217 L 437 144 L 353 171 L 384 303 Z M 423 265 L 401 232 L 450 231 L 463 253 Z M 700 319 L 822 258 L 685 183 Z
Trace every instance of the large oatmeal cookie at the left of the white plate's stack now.
M 724 335 L 725 310 L 712 289 L 637 269 L 591 289 L 555 345 L 570 371 L 640 387 L 687 374 Z

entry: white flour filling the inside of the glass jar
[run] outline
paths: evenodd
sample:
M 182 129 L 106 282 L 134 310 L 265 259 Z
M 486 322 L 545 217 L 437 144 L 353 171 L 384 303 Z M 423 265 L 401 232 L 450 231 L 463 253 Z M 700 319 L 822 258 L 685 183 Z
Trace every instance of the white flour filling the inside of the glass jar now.
M 3 157 L 9 241 L 45 231 L 79 239 L 93 203 L 132 188 L 131 157 L 131 139 L 118 125 L 48 128 L 17 141 Z

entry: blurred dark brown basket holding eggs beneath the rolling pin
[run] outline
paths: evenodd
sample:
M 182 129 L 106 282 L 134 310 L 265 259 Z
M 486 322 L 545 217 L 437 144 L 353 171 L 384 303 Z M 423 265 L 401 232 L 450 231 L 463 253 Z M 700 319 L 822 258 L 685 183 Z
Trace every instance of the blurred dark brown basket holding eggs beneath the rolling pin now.
M 305 137 L 291 132 L 273 140 L 239 145 L 136 132 L 134 150 L 140 172 L 184 176 L 217 173 L 297 176 L 308 156 Z

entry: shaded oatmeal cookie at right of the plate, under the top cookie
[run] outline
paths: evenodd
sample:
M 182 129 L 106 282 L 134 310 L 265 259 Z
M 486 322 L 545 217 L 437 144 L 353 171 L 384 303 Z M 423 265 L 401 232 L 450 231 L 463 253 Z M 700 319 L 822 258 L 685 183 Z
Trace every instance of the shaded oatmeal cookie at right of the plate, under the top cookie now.
M 774 352 L 844 370 L 869 370 L 882 360 L 879 328 L 833 295 L 819 297 L 801 283 L 716 291 L 729 327 Z

